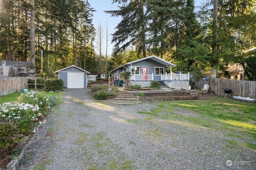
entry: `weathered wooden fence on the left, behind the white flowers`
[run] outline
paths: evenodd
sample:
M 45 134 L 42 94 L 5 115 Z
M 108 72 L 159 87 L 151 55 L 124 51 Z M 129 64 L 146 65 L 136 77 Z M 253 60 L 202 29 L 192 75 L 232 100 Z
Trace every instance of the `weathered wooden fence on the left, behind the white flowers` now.
M 38 77 L 0 77 L 0 96 L 28 88 L 28 79 L 35 78 Z

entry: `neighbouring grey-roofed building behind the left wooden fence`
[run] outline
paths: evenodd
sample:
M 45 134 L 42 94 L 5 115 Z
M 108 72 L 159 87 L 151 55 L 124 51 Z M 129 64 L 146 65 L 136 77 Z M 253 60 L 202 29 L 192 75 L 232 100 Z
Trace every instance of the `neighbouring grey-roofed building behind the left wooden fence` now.
M 36 69 L 28 61 L 6 61 L 0 60 L 0 76 L 19 77 L 28 76 L 34 77 Z

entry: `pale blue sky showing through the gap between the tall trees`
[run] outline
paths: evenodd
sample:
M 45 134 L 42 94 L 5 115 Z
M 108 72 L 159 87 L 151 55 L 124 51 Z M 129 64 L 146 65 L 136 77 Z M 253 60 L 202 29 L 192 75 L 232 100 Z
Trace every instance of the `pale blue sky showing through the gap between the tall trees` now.
M 195 6 L 199 6 L 201 2 L 205 1 L 206 0 L 195 0 Z M 112 48 L 114 47 L 114 44 L 111 44 L 111 34 L 115 32 L 115 27 L 120 22 L 121 18 L 111 17 L 110 14 L 106 14 L 104 11 L 118 10 L 118 3 L 112 4 L 113 0 L 88 0 L 88 2 L 91 5 L 91 8 L 96 10 L 96 12 L 93 12 L 92 18 L 94 28 L 97 30 L 101 23 L 101 27 L 103 29 L 103 54 L 106 53 L 106 28 L 108 27 L 108 56 L 110 56 L 112 55 Z M 121 6 L 122 4 L 119 5 Z

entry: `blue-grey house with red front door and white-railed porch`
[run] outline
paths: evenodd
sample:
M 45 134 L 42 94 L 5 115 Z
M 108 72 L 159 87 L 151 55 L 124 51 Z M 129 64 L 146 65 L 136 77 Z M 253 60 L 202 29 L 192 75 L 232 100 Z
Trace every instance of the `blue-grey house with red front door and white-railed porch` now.
M 164 59 L 151 55 L 136 61 L 123 64 L 114 68 L 109 73 L 112 74 L 112 84 L 117 84 L 118 80 L 122 80 L 122 72 L 131 72 L 129 85 L 140 85 L 141 87 L 150 87 L 150 82 L 156 80 L 164 82 L 169 88 L 180 90 L 181 88 L 189 89 L 189 73 L 172 72 L 172 67 L 175 67 Z M 169 70 L 167 73 L 167 70 Z

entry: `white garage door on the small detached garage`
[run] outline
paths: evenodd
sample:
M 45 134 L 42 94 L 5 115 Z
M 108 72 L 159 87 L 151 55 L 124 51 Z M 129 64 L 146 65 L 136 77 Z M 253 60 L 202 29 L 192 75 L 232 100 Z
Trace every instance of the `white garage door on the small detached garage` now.
M 68 72 L 68 88 L 84 88 L 84 73 Z

